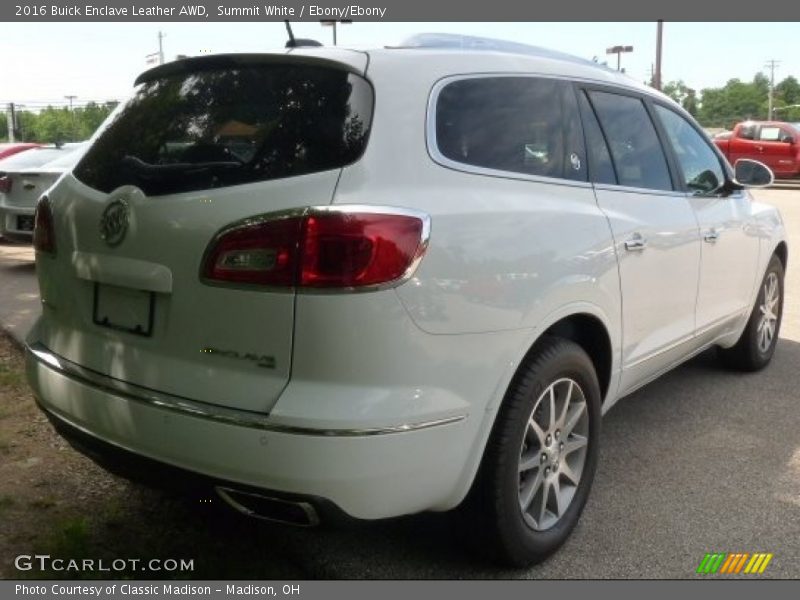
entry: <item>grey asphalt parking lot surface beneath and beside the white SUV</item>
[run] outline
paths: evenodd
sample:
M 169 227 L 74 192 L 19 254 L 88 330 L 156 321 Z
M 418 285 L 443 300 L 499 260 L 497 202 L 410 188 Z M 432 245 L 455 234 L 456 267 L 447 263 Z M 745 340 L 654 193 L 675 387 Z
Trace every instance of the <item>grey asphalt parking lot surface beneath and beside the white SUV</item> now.
M 213 551 L 268 545 L 292 565 L 287 577 L 352 579 L 685 578 L 707 552 L 771 552 L 762 577 L 800 577 L 800 190 L 757 195 L 789 230 L 773 363 L 731 373 L 709 352 L 620 401 L 604 421 L 583 518 L 544 564 L 497 570 L 458 541 L 463 523 L 432 514 L 352 528 L 216 527 Z M 38 310 L 30 259 L 0 242 L 0 323 L 16 336 Z M 212 560 L 212 549 L 192 551 Z

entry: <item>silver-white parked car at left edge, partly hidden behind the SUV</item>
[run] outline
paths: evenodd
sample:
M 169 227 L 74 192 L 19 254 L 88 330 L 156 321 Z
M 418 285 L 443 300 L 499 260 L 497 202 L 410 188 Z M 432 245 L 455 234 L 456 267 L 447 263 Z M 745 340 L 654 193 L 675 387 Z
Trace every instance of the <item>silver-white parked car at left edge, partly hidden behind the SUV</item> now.
M 0 160 L 0 236 L 18 242 L 33 239 L 36 202 L 85 148 L 80 142 L 42 146 Z

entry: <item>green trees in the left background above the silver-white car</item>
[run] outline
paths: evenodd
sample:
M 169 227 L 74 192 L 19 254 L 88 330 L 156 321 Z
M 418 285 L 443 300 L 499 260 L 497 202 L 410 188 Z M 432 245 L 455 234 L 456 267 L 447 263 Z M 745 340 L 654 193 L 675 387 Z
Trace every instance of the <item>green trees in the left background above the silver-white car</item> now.
M 85 106 L 72 110 L 69 107 L 54 106 L 48 106 L 38 112 L 16 110 L 14 138 L 18 142 L 48 144 L 86 140 L 117 104 L 117 102 L 88 102 Z M 8 119 L 0 117 L 0 141 L 8 139 Z

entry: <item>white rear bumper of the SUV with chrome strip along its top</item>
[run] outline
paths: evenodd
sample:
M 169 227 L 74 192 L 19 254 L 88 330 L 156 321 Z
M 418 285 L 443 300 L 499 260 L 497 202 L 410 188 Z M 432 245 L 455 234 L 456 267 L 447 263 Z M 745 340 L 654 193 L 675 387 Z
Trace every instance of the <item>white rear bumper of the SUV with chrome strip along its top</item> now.
M 187 489 L 268 490 L 360 519 L 446 510 L 472 443 L 466 416 L 369 430 L 287 428 L 207 404 L 207 414 L 195 412 L 200 403 L 191 401 L 176 408 L 151 390 L 71 368 L 42 346 L 30 347 L 26 361 L 40 407 L 78 449 L 109 470 L 134 479 L 165 473 L 160 479 Z

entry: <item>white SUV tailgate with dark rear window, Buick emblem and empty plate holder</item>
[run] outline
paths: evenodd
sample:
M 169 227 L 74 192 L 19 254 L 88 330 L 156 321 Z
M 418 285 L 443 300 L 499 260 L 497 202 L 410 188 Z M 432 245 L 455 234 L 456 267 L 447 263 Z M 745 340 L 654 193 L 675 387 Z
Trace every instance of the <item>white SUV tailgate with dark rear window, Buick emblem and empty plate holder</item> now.
M 204 283 L 203 257 L 231 223 L 329 204 L 372 92 L 330 61 L 188 62 L 145 80 L 52 191 L 37 336 L 98 373 L 268 412 L 290 374 L 294 293 Z

